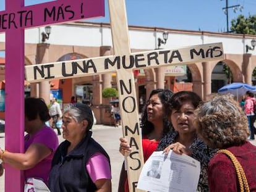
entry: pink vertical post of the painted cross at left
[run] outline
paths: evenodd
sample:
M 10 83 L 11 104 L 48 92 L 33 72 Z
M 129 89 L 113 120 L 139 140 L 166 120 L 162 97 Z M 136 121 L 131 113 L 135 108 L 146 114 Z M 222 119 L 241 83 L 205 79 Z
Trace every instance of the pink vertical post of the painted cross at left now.
M 6 0 L 6 9 L 20 9 L 24 0 Z M 6 149 L 24 151 L 24 30 L 6 32 Z M 5 191 L 23 191 L 23 172 L 6 164 Z M 15 181 L 15 182 L 14 182 Z M 14 185 L 15 183 L 15 185 Z

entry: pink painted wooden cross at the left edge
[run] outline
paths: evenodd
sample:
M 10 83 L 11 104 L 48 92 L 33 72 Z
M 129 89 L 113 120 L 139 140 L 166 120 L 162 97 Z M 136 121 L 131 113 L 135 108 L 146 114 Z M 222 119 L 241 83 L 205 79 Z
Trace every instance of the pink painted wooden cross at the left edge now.
M 6 10 L 0 12 L 0 32 L 6 33 L 6 149 L 24 152 L 24 29 L 104 14 L 104 0 L 58 0 L 26 7 L 24 0 L 6 0 Z M 23 191 L 23 185 L 22 172 L 6 165 L 5 191 Z

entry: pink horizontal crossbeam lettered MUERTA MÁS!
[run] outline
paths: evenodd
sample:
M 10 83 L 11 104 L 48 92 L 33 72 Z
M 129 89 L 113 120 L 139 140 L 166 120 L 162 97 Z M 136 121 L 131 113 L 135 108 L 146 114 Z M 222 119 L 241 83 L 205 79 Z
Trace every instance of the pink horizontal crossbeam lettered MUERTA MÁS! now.
M 12 8 L 0 12 L 0 32 L 99 17 L 104 13 L 102 0 L 60 0 Z

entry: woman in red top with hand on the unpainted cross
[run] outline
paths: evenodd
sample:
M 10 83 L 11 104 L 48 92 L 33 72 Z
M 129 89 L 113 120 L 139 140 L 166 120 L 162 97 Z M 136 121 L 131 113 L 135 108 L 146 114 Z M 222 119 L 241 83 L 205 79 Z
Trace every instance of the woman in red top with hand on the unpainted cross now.
M 166 113 L 164 112 L 164 106 L 167 104 L 173 92 L 170 90 L 156 89 L 151 91 L 150 98 L 146 102 L 140 127 L 142 128 L 142 149 L 144 161 L 147 161 L 148 157 L 156 151 L 159 141 L 164 135 L 173 131 L 171 122 L 169 122 Z M 130 152 L 130 146 L 127 144 L 125 138 L 120 138 L 121 144 L 119 151 L 121 154 Z M 122 166 L 120 180 L 119 180 L 119 192 L 129 191 L 127 182 L 127 173 L 124 170 L 124 164 Z

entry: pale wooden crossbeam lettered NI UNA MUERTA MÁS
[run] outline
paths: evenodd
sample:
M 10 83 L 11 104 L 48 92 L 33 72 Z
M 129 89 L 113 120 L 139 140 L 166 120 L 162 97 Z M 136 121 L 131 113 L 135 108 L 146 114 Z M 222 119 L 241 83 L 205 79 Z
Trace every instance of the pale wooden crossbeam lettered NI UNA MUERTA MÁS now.
M 121 56 L 103 56 L 48 64 L 25 66 L 26 80 L 38 82 L 76 78 L 123 70 L 149 69 L 169 65 L 192 64 L 223 59 L 221 43 L 202 44 L 177 49 L 157 49 Z

